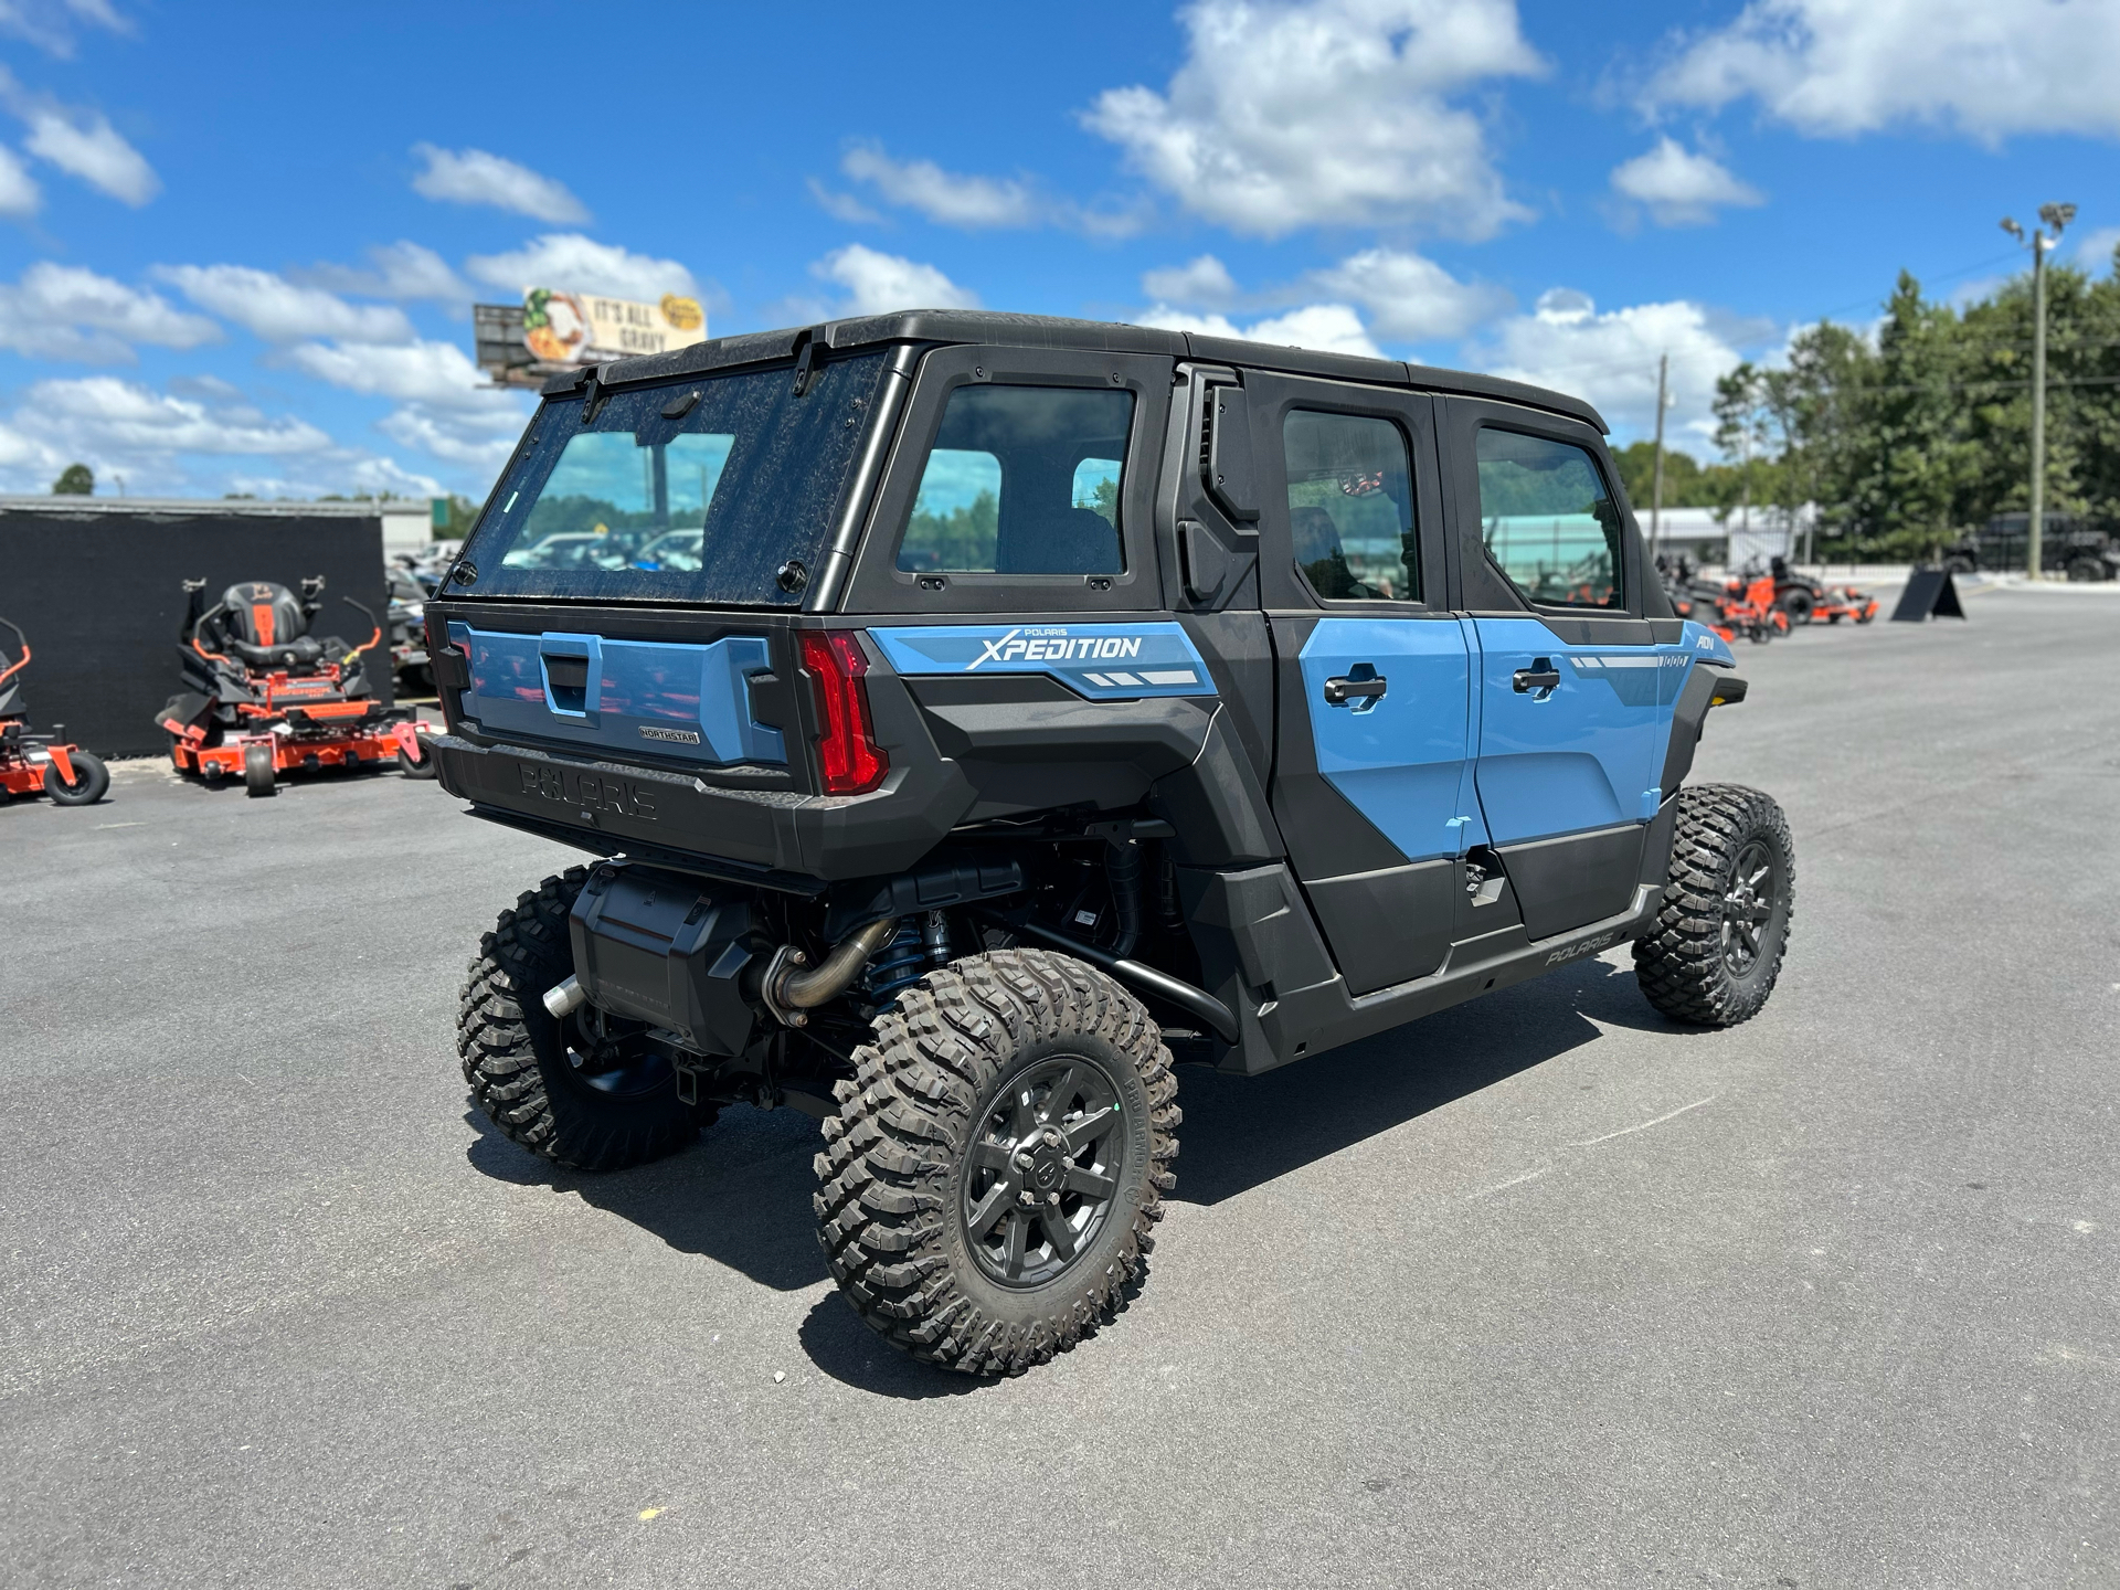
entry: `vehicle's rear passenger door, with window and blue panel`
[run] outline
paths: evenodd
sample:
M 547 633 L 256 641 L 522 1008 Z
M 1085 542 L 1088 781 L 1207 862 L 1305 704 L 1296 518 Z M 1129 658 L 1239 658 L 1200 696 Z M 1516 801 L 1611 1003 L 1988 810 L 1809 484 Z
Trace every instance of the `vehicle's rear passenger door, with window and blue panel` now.
M 1274 816 L 1353 992 L 1423 977 L 1454 922 L 1469 651 L 1444 598 L 1433 401 L 1244 375 L 1280 670 Z

